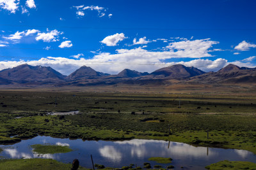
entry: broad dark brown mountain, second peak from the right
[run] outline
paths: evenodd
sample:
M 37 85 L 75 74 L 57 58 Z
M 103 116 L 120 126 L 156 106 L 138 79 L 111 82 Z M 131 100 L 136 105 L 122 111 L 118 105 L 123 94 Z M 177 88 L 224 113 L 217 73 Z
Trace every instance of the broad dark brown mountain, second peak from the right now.
M 182 64 L 177 64 L 177 65 L 157 69 L 156 71 L 150 74 L 154 76 L 164 76 L 168 78 L 186 78 L 186 77 L 198 76 L 204 73 L 205 73 L 204 71 L 197 69 L 195 67 L 186 67 L 186 66 L 183 66 Z

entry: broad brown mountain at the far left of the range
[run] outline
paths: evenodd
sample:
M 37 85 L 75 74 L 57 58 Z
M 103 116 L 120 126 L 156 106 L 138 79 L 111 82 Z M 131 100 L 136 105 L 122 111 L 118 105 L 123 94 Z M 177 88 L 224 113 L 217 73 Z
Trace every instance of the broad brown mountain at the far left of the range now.
M 55 83 L 65 78 L 51 67 L 29 66 L 28 64 L 22 64 L 12 69 L 4 69 L 0 71 L 0 77 L 17 83 Z

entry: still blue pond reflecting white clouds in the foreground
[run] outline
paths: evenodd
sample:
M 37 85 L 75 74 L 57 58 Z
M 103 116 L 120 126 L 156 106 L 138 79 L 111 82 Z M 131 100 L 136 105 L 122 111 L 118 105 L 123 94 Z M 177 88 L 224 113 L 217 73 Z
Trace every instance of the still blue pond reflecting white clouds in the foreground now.
M 38 155 L 33 153 L 30 145 L 52 144 L 68 145 L 72 152 Z M 22 140 L 14 145 L 0 145 L 4 149 L 0 159 L 29 159 L 47 158 L 69 163 L 78 159 L 81 166 L 92 168 L 90 155 L 95 164 L 106 167 L 122 167 L 136 164 L 143 167 L 143 162 L 152 166 L 158 164 L 148 161 L 150 157 L 170 157 L 175 169 L 205 169 L 204 167 L 220 160 L 241 160 L 256 162 L 256 155 L 246 150 L 195 147 L 184 143 L 132 139 L 131 141 L 83 141 L 82 139 L 60 139 L 49 136 L 37 136 L 33 139 Z

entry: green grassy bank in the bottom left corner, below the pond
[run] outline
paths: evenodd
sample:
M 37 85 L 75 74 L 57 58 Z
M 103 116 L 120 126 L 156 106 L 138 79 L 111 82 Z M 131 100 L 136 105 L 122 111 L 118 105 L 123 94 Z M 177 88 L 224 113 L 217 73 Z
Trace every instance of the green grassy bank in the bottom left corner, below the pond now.
M 72 164 L 64 164 L 52 159 L 3 159 L 0 160 L 1 170 L 27 170 L 27 169 L 67 169 L 70 170 Z M 79 167 L 79 169 L 86 169 Z

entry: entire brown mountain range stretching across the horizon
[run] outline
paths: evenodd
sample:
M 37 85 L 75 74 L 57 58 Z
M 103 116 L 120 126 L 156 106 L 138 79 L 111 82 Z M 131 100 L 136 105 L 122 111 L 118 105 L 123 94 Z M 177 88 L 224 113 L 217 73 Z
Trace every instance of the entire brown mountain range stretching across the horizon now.
M 176 83 L 256 83 L 256 67 L 238 67 L 229 64 L 216 72 L 208 72 L 181 64 L 163 67 L 152 73 L 140 73 L 124 69 L 111 75 L 82 66 L 74 73 L 64 76 L 51 67 L 29 66 L 22 64 L 0 71 L 0 85 L 54 85 L 54 86 L 88 86 L 114 85 L 118 83 L 139 85 L 164 85 L 170 80 Z

